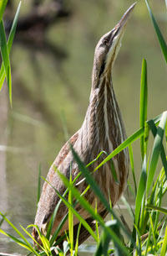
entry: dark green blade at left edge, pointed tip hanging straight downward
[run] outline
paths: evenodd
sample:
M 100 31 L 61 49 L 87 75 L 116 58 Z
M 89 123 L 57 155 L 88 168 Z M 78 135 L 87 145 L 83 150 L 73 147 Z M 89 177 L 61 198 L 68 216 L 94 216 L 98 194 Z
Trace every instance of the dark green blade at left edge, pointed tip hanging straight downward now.
M 0 21 L 0 48 L 1 48 L 1 55 L 3 58 L 3 65 L 5 69 L 5 74 L 8 82 L 8 95 L 9 100 L 12 106 L 12 78 L 11 78 L 11 66 L 10 66 L 10 60 L 8 55 L 8 45 L 7 45 L 7 39 L 4 29 L 3 20 Z

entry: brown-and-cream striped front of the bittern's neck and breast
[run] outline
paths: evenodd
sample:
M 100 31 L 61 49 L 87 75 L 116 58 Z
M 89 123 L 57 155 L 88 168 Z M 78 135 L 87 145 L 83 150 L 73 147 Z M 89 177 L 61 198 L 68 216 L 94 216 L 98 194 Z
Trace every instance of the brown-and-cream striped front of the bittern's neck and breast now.
M 126 138 L 124 124 L 119 111 L 119 106 L 115 98 L 114 88 L 111 76 L 107 73 L 102 76 L 99 81 L 99 86 L 92 88 L 89 107 L 83 126 L 80 129 L 81 138 L 81 155 L 85 164 L 97 157 L 101 151 L 110 154 L 121 144 Z M 88 149 L 89 145 L 89 149 Z M 86 155 L 84 154 L 86 153 Z M 103 159 L 106 155 L 103 156 Z M 85 160 L 86 159 L 86 160 Z M 102 159 L 100 159 L 101 161 Z M 129 153 L 124 149 L 113 159 L 114 169 L 116 170 L 119 185 L 118 192 L 113 196 L 114 201 L 117 201 L 122 191 L 124 190 L 124 180 L 127 179 L 129 170 Z M 99 164 L 99 161 L 96 165 Z M 109 179 L 109 163 L 104 165 L 101 178 L 98 177 L 99 183 Z M 104 172 L 107 173 L 104 176 Z M 101 181 L 100 181 L 101 179 Z M 114 185 L 114 179 L 111 181 L 111 190 Z M 105 185 L 104 185 L 105 187 Z M 108 193 L 109 191 L 106 191 Z

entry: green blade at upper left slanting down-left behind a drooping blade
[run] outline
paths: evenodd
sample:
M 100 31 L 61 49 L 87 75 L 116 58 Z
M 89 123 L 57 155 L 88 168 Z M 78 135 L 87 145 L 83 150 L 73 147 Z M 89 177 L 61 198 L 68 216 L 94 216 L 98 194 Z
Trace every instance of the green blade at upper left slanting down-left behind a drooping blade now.
M 18 24 L 18 14 L 20 12 L 20 8 L 21 8 L 21 2 L 18 4 L 18 9 L 17 9 L 15 17 L 13 19 L 12 29 L 11 29 L 10 34 L 8 36 L 8 54 L 11 51 L 14 35 L 16 33 L 16 27 L 17 27 L 17 24 Z M 4 80 L 5 80 L 5 69 L 4 69 L 4 65 L 2 64 L 1 70 L 0 70 L 0 91 L 1 91 L 1 89 L 3 87 Z

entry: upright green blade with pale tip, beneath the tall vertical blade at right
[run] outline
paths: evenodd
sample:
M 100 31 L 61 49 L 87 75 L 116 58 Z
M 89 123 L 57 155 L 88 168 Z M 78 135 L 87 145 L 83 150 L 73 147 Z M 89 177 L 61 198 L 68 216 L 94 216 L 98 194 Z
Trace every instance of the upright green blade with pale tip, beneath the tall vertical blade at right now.
M 142 172 L 139 179 L 139 187 L 137 191 L 136 201 L 135 201 L 135 224 L 138 227 L 139 224 L 139 213 L 142 205 L 142 200 L 144 198 L 144 191 L 146 188 L 147 182 L 147 162 L 146 162 L 146 155 L 144 156 L 144 162 L 142 167 Z

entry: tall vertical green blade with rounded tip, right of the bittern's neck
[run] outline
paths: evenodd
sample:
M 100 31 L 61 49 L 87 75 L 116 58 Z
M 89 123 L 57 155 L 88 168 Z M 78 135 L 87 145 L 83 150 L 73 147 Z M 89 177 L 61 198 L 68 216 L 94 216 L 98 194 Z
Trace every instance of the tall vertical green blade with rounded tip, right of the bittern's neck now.
M 140 85 L 140 104 L 139 104 L 139 123 L 140 128 L 144 128 L 144 123 L 147 120 L 147 62 L 143 60 L 141 71 L 141 85 Z M 144 136 L 140 138 L 141 156 L 144 159 Z

